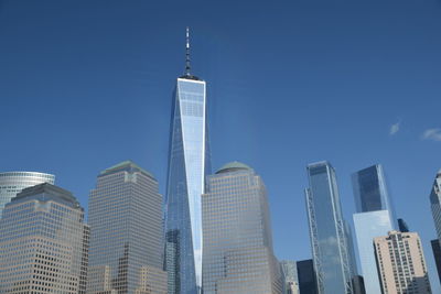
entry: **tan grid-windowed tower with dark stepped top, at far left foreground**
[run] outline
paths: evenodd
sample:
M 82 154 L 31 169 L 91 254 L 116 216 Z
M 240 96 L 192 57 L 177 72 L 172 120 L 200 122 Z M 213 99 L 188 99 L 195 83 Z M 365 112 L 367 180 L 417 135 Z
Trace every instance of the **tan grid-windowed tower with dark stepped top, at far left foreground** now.
M 0 293 L 86 294 L 88 227 L 67 190 L 23 189 L 0 220 Z

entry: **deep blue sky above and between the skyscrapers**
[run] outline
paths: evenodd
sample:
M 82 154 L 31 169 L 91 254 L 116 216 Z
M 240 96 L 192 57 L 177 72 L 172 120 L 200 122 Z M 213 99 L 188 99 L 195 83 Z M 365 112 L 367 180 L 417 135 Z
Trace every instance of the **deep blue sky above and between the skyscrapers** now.
M 381 163 L 439 291 L 440 0 L 0 0 L 0 171 L 54 173 L 87 206 L 99 171 L 131 159 L 163 193 L 186 25 L 213 166 L 237 160 L 263 177 L 276 254 L 311 257 L 308 163 L 334 165 L 347 220 L 351 173 Z

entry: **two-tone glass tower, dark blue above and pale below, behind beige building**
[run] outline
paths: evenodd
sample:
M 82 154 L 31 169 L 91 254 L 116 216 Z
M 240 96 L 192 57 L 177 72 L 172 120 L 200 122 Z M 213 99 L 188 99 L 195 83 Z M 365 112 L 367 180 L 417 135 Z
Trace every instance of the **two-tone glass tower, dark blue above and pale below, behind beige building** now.
M 373 165 L 352 175 L 356 214 L 355 236 L 367 294 L 380 293 L 374 254 L 374 238 L 394 229 L 392 207 L 381 165 Z

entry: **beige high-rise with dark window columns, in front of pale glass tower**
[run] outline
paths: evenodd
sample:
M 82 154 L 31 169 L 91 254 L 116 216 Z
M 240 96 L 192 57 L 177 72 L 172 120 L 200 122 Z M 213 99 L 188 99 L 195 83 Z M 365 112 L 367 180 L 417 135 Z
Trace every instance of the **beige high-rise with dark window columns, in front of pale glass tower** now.
M 374 246 L 381 293 L 432 293 L 418 233 L 389 231 L 375 238 Z

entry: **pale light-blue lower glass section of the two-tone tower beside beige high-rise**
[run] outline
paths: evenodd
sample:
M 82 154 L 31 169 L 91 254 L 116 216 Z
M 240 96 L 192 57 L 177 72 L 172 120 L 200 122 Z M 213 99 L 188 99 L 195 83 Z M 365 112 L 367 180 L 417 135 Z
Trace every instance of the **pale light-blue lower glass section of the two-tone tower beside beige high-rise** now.
M 354 227 L 366 293 L 381 293 L 374 253 L 374 238 L 385 236 L 392 230 L 389 213 L 377 210 L 354 214 Z

